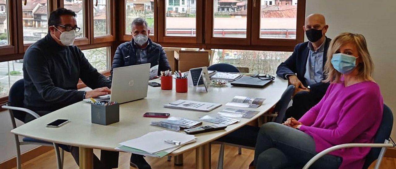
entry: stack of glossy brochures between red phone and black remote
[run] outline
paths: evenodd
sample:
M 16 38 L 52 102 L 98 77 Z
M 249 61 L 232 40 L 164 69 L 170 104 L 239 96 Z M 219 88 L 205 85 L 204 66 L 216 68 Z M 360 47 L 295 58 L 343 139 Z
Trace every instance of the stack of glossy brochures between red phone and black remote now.
M 186 128 L 194 128 L 202 124 L 202 122 L 198 122 L 195 120 L 191 120 L 188 118 L 181 118 L 181 117 L 169 117 L 166 120 L 162 120 L 159 122 L 151 122 L 153 126 L 160 126 L 163 128 L 168 128 L 175 131 L 180 131 Z

